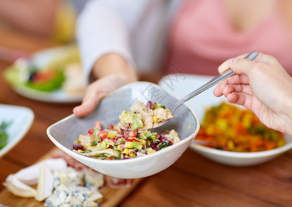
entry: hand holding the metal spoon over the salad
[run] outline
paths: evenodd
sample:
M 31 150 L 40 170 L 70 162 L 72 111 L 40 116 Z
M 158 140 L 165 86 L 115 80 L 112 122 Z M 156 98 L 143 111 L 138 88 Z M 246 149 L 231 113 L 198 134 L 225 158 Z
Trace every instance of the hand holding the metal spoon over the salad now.
M 292 79 L 280 63 L 270 55 L 259 54 L 255 61 L 229 59 L 219 66 L 235 75 L 218 83 L 216 97 L 225 95 L 230 103 L 245 106 L 264 125 L 292 135 Z

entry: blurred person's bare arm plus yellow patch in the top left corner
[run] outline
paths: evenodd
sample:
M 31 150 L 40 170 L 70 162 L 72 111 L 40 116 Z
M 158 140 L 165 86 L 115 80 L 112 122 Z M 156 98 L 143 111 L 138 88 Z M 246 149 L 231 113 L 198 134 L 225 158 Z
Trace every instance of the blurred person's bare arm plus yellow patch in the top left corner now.
M 75 38 L 76 17 L 86 0 L 0 0 L 0 28 L 16 28 L 56 43 Z

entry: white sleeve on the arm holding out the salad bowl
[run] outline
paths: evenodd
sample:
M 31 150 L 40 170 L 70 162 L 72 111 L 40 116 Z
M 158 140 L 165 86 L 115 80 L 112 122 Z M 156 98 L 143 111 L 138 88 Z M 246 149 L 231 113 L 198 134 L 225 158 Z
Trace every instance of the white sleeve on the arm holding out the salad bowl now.
M 147 0 L 88 1 L 76 25 L 87 80 L 94 63 L 107 53 L 116 53 L 135 67 L 131 35 L 147 3 Z

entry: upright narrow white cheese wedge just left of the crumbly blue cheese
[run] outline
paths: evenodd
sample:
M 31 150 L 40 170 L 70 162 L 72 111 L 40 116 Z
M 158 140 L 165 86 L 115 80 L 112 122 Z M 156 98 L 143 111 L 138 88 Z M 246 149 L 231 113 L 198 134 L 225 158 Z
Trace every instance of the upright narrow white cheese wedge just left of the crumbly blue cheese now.
M 51 170 L 46 164 L 43 164 L 39 167 L 39 181 L 37 182 L 36 187 L 36 196 L 37 201 L 43 201 L 53 193 L 53 183 L 54 177 Z

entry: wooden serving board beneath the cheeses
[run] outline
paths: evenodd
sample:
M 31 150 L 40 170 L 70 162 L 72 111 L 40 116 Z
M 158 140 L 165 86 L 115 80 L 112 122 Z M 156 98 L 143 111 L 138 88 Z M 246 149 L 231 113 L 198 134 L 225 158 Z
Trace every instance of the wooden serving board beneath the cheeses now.
M 41 159 L 36 162 L 42 161 L 43 159 L 48 159 L 51 157 L 56 151 L 61 151 L 59 148 L 52 148 L 48 153 L 43 155 Z M 104 186 L 100 188 L 99 191 L 103 194 L 103 200 L 100 202 L 101 207 L 106 206 L 118 206 L 132 191 L 136 186 L 142 181 L 142 179 L 134 179 L 128 187 L 121 188 L 110 188 L 109 186 Z M 28 207 L 39 207 L 44 205 L 43 202 L 36 201 L 34 198 L 23 198 L 14 196 L 10 191 L 6 188 L 3 189 L 0 193 L 0 204 L 4 206 L 10 207 L 19 207 L 19 206 L 28 206 Z M 1 205 L 0 205 L 1 206 Z

